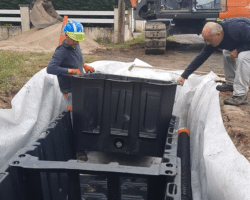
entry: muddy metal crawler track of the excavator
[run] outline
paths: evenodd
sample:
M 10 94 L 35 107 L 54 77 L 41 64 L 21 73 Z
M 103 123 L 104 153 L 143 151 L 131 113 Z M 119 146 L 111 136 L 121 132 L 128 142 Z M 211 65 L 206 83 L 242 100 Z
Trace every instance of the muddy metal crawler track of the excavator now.
M 166 24 L 162 22 L 146 22 L 145 54 L 165 54 L 166 36 Z

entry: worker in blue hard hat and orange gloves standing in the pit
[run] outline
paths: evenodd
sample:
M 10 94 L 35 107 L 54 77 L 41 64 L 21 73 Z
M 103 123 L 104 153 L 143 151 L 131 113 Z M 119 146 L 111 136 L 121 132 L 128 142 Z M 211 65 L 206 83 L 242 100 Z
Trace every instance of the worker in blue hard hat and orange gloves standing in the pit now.
M 66 39 L 55 50 L 48 66 L 47 73 L 57 75 L 59 87 L 67 102 L 67 110 L 72 111 L 72 91 L 69 74 L 94 72 L 94 68 L 84 64 L 79 41 L 84 40 L 83 26 L 77 21 L 70 21 L 64 26 Z M 71 113 L 72 115 L 72 113 Z M 85 151 L 77 151 L 78 160 L 87 161 Z

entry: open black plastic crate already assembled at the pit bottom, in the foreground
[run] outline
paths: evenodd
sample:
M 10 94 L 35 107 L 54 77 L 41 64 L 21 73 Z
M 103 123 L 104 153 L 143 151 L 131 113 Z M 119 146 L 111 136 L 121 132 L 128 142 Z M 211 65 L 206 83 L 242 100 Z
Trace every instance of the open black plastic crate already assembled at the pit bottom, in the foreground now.
M 96 156 L 80 162 L 75 159 L 70 113 L 64 112 L 0 170 L 0 199 L 180 200 L 177 129 L 173 116 L 161 158 L 125 155 L 126 164 L 117 161 L 124 159 L 119 154 L 106 163 L 95 161 Z M 99 153 L 104 160 L 115 154 Z

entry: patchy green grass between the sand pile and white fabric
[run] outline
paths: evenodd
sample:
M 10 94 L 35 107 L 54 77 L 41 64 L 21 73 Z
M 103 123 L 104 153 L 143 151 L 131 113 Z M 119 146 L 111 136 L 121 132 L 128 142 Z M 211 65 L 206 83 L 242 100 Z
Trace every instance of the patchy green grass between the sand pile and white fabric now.
M 53 53 L 0 51 L 0 93 L 17 92 L 38 71 L 47 67 Z M 101 60 L 96 56 L 85 56 L 91 63 Z

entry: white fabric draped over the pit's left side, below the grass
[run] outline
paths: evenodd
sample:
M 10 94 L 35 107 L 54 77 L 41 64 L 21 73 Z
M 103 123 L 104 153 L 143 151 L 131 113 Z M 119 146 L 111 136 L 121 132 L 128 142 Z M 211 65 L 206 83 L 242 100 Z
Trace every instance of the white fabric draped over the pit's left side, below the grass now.
M 0 168 L 66 107 L 57 77 L 46 69 L 22 87 L 11 105 L 12 109 L 0 109 Z

